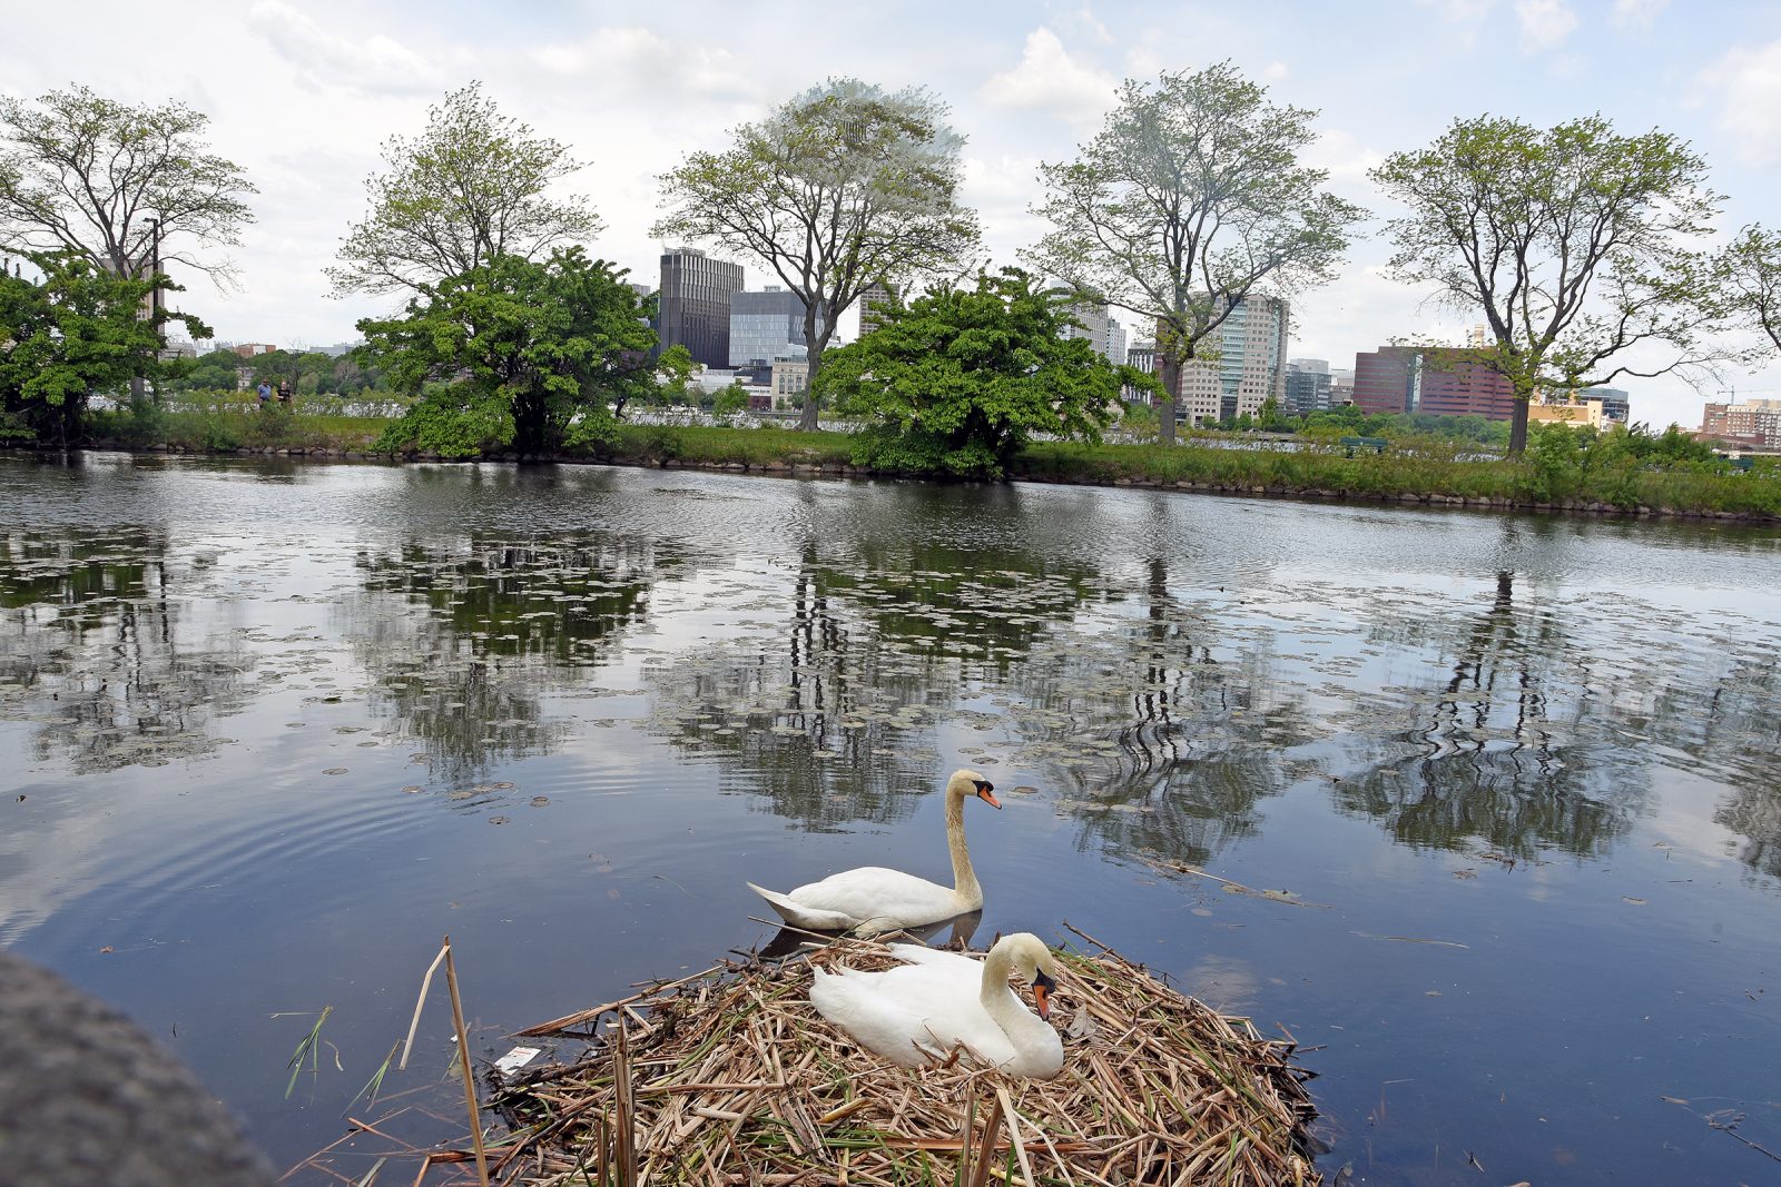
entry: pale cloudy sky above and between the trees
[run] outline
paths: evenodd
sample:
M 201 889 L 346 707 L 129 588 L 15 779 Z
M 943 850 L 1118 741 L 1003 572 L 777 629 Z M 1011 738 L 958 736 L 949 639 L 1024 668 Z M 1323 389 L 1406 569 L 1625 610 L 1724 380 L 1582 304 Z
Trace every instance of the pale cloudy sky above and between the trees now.
M 183 303 L 237 342 L 326 345 L 390 308 L 328 297 L 322 267 L 365 212 L 379 144 L 417 133 L 427 105 L 470 80 L 573 146 L 588 164 L 568 189 L 607 224 L 597 254 L 652 281 L 657 174 L 828 75 L 919 84 L 951 105 L 967 137 L 965 199 L 997 263 L 1042 231 L 1028 214 L 1038 162 L 1072 157 L 1122 78 L 1222 59 L 1266 82 L 1275 101 L 1320 110 L 1314 162 L 1380 215 L 1389 210 L 1366 169 L 1455 117 L 1549 125 L 1599 110 L 1622 132 L 1656 126 L 1692 141 L 1726 194 L 1724 230 L 1781 226 L 1772 0 L 82 0 L 18 4 L 5 25 L 0 93 L 80 82 L 210 116 L 216 149 L 260 187 L 258 221 L 233 251 L 237 292 L 176 279 L 191 290 Z M 1295 356 L 1352 367 L 1355 351 L 1418 333 L 1457 338 L 1476 320 L 1387 279 L 1386 254 L 1377 237 L 1359 242 L 1338 283 L 1295 301 Z M 768 279 L 750 267 L 750 287 Z M 1621 386 L 1635 420 L 1696 427 L 1713 390 L 1781 397 L 1781 367 L 1728 374 L 1706 395 L 1674 379 Z

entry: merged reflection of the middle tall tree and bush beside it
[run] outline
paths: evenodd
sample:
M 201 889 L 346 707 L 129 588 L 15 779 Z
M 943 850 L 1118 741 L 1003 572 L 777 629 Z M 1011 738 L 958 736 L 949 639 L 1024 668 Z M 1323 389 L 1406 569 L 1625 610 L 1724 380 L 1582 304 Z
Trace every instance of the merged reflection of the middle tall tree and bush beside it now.
M 791 616 L 768 634 L 680 651 L 647 669 L 655 728 L 723 762 L 727 787 L 825 831 L 890 822 L 940 787 L 942 721 L 1102 596 L 1094 568 L 1013 548 L 860 543 L 846 561 L 800 552 Z

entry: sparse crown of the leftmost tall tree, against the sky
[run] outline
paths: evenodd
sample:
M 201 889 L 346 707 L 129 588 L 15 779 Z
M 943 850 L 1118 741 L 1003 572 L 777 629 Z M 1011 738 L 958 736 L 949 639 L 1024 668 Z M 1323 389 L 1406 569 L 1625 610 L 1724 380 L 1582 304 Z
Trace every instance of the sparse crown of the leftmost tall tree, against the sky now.
M 132 279 L 159 249 L 162 267 L 226 276 L 226 260 L 196 249 L 237 246 L 256 190 L 207 151 L 207 123 L 185 103 L 130 107 L 80 85 L 0 98 L 0 247 L 73 253 Z

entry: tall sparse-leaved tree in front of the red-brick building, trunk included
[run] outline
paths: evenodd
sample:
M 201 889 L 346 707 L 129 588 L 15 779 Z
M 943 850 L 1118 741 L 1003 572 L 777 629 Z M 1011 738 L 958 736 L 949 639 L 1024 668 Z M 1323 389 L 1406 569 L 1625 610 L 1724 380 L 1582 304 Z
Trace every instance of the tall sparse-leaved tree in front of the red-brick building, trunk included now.
M 1510 454 L 1542 388 L 1699 379 L 1726 358 L 1703 336 L 1720 310 L 1694 247 L 1719 196 L 1687 141 L 1619 135 L 1601 116 L 1548 130 L 1480 116 L 1371 178 L 1405 206 L 1387 224 L 1396 278 L 1489 326 L 1478 361 L 1514 384 Z

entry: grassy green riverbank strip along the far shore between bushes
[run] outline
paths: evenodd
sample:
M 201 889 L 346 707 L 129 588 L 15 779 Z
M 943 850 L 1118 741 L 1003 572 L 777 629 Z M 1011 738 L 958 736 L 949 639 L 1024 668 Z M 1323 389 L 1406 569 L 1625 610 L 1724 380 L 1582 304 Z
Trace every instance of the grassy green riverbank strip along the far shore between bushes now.
M 208 454 L 303 454 L 370 457 L 388 425 L 383 416 L 340 411 L 233 408 L 162 411 L 148 420 L 96 413 L 93 443 Z M 759 473 L 866 473 L 850 461 L 844 432 L 620 425 L 598 452 L 563 461 L 744 470 Z M 1523 461 L 1480 461 L 1453 447 L 1391 445 L 1354 457 L 1338 447 L 1295 450 L 1218 448 L 1209 443 L 1028 447 L 1008 477 L 1037 482 L 1147 486 L 1297 498 L 1355 498 L 1478 507 L 1549 507 L 1628 514 L 1699 514 L 1781 520 L 1781 464 L 1749 472 L 1728 463 L 1651 466 L 1635 459 L 1594 459 L 1587 450 L 1530 450 Z

